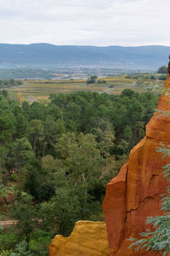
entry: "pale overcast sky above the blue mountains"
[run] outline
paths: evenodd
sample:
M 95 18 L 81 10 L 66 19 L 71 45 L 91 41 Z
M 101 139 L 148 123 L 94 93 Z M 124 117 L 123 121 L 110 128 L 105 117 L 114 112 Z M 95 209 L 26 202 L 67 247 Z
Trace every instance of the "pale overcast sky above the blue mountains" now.
M 170 46 L 170 0 L 0 0 L 0 43 Z

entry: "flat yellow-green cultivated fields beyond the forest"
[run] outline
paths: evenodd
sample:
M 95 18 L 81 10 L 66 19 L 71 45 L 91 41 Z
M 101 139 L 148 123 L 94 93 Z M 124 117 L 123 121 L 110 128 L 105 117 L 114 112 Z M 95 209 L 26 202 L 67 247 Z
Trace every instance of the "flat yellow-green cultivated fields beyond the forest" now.
M 100 81 L 99 81 L 100 80 Z M 101 81 L 105 80 L 106 83 Z M 99 83 L 98 83 L 99 81 Z M 125 75 L 98 79 L 96 84 L 87 84 L 87 80 L 24 80 L 24 84 L 8 89 L 9 96 L 19 98 L 20 102 L 48 102 L 52 93 L 73 93 L 77 91 L 96 91 L 98 93 L 121 94 L 124 89 L 136 91 L 148 90 L 150 85 L 160 86 L 160 80 L 127 79 Z

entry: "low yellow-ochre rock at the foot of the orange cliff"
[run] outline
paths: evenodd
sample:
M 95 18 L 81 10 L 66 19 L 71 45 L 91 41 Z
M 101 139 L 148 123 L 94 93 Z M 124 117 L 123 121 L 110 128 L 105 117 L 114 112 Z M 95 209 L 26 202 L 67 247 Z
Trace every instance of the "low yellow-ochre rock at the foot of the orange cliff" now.
M 49 256 L 109 256 L 105 222 L 78 221 L 69 237 L 55 236 Z

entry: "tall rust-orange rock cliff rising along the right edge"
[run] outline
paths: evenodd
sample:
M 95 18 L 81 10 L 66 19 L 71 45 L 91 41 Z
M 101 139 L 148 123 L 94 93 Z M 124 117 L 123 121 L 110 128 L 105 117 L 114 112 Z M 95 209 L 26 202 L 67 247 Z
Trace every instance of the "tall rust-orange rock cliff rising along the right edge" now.
M 165 88 L 170 88 L 167 76 Z M 157 109 L 170 111 L 170 96 L 164 92 Z M 170 143 L 170 116 L 156 112 L 146 125 L 146 136 L 129 155 L 126 165 L 122 166 L 117 177 L 107 185 L 103 210 L 107 228 L 111 256 L 156 256 L 159 253 L 135 252 L 128 249 L 130 237 L 140 237 L 139 233 L 151 228 L 145 224 L 149 216 L 162 212 L 161 196 L 166 191 L 167 181 L 162 177 L 162 166 L 168 158 L 156 152 L 160 143 Z

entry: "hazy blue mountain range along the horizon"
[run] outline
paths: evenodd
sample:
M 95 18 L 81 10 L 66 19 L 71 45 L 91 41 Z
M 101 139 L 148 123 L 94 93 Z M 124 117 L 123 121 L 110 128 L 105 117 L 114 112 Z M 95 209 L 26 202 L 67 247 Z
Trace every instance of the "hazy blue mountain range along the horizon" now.
M 0 44 L 0 68 L 112 67 L 156 70 L 167 66 L 170 47 L 161 45 L 74 46 Z

